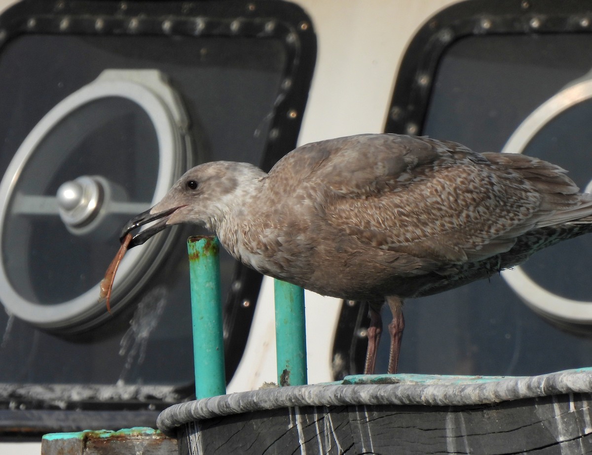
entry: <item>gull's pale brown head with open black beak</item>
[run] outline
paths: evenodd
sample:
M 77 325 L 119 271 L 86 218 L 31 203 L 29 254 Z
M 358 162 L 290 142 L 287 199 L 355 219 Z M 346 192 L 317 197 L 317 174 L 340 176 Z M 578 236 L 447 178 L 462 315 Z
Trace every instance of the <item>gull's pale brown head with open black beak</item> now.
M 128 248 L 141 245 L 157 232 L 180 223 L 194 223 L 215 230 L 226 213 L 240 207 L 253 194 L 262 170 L 247 163 L 213 161 L 188 170 L 165 197 L 126 223 L 123 239 L 132 230 L 156 221 L 134 235 Z

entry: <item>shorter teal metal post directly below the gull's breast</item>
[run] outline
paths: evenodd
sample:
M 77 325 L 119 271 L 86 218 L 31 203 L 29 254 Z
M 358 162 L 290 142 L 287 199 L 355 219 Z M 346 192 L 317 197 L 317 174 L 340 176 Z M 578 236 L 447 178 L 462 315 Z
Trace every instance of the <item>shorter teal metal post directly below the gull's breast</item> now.
M 304 290 L 294 284 L 275 280 L 274 291 L 278 384 L 305 385 L 307 366 Z

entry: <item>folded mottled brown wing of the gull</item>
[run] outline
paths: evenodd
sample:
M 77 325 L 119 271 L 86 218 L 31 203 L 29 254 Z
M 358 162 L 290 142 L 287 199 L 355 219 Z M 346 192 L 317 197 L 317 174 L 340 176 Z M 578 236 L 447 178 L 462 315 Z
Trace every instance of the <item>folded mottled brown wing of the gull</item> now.
M 508 251 L 580 196 L 565 171 L 536 158 L 399 135 L 308 144 L 269 177 L 287 171 L 295 186 L 284 194 L 307 200 L 334 228 L 369 247 L 436 262 Z

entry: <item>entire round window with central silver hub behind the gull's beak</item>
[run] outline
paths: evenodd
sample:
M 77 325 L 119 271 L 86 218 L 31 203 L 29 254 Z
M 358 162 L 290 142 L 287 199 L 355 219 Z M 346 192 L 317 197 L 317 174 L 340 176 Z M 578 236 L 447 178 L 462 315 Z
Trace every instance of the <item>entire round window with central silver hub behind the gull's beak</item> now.
M 38 122 L 0 182 L 0 300 L 9 313 L 67 331 L 109 316 L 99 282 L 121 226 L 191 164 L 186 126 L 156 70 L 105 70 Z M 150 279 L 173 235 L 124 257 L 113 311 Z

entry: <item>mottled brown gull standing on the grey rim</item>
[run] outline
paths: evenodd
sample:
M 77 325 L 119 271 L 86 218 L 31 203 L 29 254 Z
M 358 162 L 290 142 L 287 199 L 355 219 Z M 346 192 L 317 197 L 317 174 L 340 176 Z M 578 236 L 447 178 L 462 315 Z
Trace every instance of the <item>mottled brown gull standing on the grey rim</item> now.
M 496 274 L 592 230 L 592 195 L 562 168 L 455 142 L 362 134 L 303 145 L 265 173 L 217 161 L 187 171 L 125 226 L 130 248 L 178 223 L 215 232 L 234 258 L 323 295 L 369 302 L 365 372 L 385 302 L 397 371 L 403 299 Z

